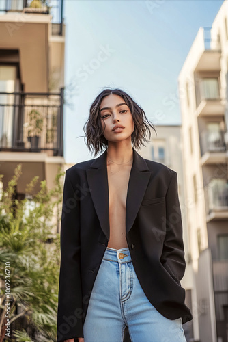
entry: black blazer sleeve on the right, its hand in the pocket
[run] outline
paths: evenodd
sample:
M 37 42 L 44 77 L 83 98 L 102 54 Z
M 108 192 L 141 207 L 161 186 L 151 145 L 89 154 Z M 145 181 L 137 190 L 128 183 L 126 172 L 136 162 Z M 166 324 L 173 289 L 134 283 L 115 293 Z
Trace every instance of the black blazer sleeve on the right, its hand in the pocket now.
M 184 259 L 184 243 L 182 238 L 182 215 L 177 188 L 177 172 L 173 171 L 166 194 L 166 234 L 160 261 L 180 284 L 184 276 L 186 262 Z

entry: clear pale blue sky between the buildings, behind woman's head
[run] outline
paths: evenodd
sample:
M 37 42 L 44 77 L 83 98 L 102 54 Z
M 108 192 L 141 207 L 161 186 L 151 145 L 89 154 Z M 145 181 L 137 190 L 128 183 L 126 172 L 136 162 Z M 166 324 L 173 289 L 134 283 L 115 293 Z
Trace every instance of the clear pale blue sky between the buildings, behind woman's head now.
M 64 0 L 67 163 L 93 158 L 79 135 L 105 87 L 128 92 L 155 127 L 181 124 L 177 77 L 199 27 L 212 25 L 222 3 Z

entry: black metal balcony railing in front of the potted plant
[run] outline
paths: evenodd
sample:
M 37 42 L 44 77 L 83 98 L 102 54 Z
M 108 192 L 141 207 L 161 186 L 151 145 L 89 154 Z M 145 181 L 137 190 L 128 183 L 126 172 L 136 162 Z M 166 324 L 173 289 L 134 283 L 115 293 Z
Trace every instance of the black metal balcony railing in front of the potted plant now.
M 63 88 L 60 93 L 0 92 L 0 151 L 63 156 Z

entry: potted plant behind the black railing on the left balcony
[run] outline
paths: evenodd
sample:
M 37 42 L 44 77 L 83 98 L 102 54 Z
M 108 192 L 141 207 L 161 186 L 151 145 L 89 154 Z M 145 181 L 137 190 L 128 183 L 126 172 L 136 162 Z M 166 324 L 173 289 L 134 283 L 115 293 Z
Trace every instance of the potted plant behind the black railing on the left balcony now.
M 43 129 L 43 122 L 44 120 L 38 110 L 32 109 L 29 112 L 28 141 L 31 143 L 31 148 L 39 148 L 40 146 L 40 133 Z

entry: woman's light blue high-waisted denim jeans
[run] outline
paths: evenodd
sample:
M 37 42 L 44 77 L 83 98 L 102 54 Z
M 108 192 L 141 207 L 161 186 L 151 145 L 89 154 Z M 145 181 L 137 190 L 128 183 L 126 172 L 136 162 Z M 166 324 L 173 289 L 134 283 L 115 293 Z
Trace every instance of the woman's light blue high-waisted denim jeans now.
M 84 341 L 122 342 L 126 326 L 132 342 L 186 342 L 182 318 L 164 317 L 147 299 L 129 249 L 107 247 L 89 300 Z

